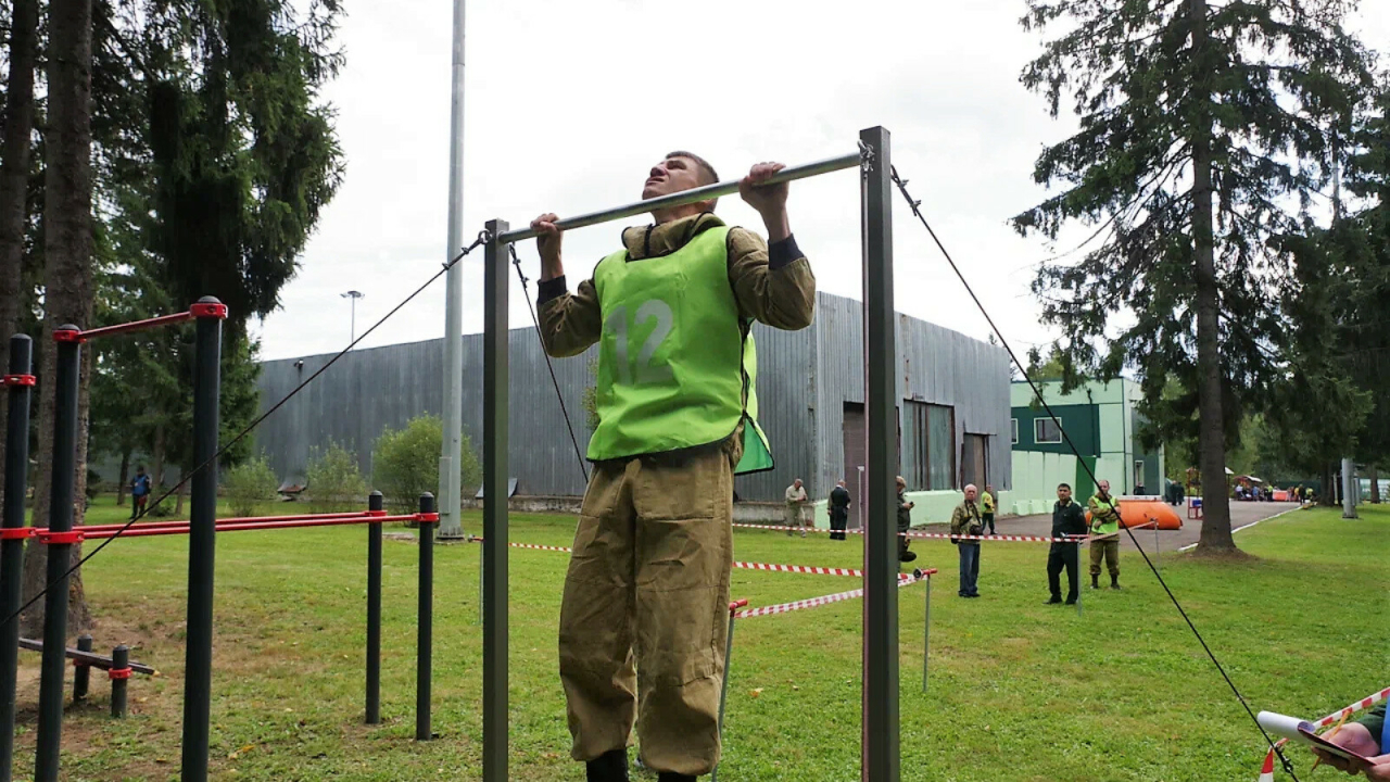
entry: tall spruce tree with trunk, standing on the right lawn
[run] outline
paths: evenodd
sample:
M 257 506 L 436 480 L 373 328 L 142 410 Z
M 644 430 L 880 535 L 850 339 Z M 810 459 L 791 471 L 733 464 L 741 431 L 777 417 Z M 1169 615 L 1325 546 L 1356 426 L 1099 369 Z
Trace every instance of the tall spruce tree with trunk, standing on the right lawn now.
M 1061 328 L 1069 383 L 1140 374 L 1161 436 L 1200 442 L 1200 551 L 1234 548 L 1227 442 L 1277 377 L 1273 242 L 1329 181 L 1329 115 L 1369 75 L 1343 28 L 1348 3 L 1029 0 L 1022 24 L 1056 38 L 1022 75 L 1052 115 L 1080 121 L 1034 178 L 1059 192 L 1013 217 L 1058 239 L 1094 231 L 1074 263 L 1038 270 L 1042 317 Z M 1165 395 L 1169 381 L 1182 392 Z M 1166 438 L 1166 437 L 1165 437 Z M 1104 477 L 1104 476 L 1102 476 Z

